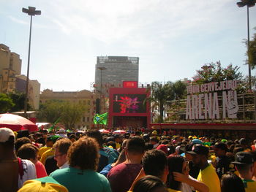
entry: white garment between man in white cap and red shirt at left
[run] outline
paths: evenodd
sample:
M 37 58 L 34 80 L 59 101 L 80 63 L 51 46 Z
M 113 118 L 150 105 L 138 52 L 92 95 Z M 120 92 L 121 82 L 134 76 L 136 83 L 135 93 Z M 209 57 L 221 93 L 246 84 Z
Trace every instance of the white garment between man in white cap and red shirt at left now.
M 22 166 L 23 166 L 23 177 L 20 178 L 20 174 L 18 175 L 18 188 L 21 188 L 23 186 L 23 183 L 26 180 L 34 180 L 37 179 L 37 172 L 36 167 L 34 164 L 26 159 L 21 159 Z

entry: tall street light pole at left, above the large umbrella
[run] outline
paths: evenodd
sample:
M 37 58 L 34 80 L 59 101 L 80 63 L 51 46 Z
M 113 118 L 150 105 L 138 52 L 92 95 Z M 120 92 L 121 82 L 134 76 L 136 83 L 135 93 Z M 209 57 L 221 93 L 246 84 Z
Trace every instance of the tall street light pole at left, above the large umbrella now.
M 25 93 L 25 102 L 24 102 L 24 115 L 27 118 L 27 108 L 28 108 L 28 95 L 29 95 L 29 62 L 30 62 L 30 45 L 31 45 L 31 26 L 32 26 L 32 16 L 41 15 L 41 11 L 36 10 L 36 7 L 29 7 L 29 9 L 22 8 L 22 12 L 30 15 L 30 31 L 29 31 L 29 56 L 28 56 L 28 69 L 26 71 L 26 93 Z

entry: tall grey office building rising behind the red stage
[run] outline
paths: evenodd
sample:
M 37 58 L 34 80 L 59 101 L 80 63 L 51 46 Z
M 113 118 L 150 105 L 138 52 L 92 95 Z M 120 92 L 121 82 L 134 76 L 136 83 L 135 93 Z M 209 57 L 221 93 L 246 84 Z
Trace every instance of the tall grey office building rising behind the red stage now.
M 139 80 L 139 58 L 126 56 L 99 56 L 95 66 L 94 88 L 108 97 L 109 88 L 121 88 L 123 81 Z M 102 85 L 101 85 L 102 84 Z

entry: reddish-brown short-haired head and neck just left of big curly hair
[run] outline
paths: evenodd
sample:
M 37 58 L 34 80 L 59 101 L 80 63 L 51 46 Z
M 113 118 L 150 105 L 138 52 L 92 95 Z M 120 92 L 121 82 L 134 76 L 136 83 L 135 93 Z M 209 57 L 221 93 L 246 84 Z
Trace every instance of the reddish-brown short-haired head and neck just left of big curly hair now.
M 71 145 L 72 142 L 67 138 L 59 139 L 54 143 L 54 159 L 57 161 L 58 167 L 61 167 L 67 163 L 67 151 Z

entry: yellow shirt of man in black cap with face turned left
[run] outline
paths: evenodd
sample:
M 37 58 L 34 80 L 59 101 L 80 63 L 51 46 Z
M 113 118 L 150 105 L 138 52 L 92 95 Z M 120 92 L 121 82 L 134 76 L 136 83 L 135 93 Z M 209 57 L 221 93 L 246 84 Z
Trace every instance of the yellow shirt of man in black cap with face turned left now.
M 221 192 L 219 177 L 212 164 L 209 164 L 206 169 L 200 170 L 197 180 L 205 183 L 209 192 Z

